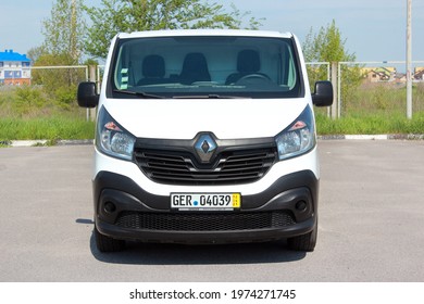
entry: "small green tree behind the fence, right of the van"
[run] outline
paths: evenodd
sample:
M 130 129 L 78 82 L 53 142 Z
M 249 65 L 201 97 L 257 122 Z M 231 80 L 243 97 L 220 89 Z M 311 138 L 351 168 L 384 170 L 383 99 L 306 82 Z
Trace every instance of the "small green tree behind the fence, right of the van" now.
M 354 62 L 357 56 L 349 53 L 346 49 L 347 39 L 341 38 L 341 33 L 333 20 L 327 27 L 321 27 L 320 31 L 313 35 L 312 28 L 307 35 L 303 48 L 303 54 L 307 62 Z M 324 66 L 308 68 L 308 76 L 311 84 L 316 80 L 327 78 L 327 69 Z M 353 64 L 350 66 L 342 65 L 341 68 L 341 99 L 345 107 L 349 99 L 356 93 L 357 88 L 362 81 L 361 66 Z

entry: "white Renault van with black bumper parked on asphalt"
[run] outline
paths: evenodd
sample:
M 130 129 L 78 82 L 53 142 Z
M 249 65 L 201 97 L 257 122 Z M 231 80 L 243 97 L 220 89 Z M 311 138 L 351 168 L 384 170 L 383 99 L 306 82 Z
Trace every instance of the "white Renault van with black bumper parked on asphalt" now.
M 159 30 L 119 34 L 100 94 L 92 176 L 101 252 L 125 240 L 235 243 L 287 239 L 313 251 L 320 170 L 313 104 L 292 34 Z

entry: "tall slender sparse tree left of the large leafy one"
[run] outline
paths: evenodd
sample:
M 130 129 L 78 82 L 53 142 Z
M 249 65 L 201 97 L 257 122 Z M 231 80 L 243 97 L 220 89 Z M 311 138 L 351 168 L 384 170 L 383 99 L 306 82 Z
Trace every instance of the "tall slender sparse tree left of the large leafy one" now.
M 57 0 L 51 10 L 51 17 L 45 20 L 42 26 L 46 52 L 68 59 L 61 64 L 78 64 L 83 54 L 83 37 L 86 30 L 83 0 Z

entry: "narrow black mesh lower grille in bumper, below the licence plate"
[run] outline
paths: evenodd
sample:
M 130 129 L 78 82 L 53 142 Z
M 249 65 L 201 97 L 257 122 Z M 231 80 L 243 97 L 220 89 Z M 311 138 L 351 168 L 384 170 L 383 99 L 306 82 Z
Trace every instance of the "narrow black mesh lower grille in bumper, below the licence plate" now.
M 123 212 L 116 226 L 162 231 L 235 231 L 283 228 L 296 224 L 286 211 L 240 213 Z

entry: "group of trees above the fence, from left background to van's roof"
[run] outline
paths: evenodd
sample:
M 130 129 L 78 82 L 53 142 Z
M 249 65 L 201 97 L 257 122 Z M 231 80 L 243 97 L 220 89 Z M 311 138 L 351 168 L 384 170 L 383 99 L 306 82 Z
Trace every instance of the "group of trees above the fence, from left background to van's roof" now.
M 104 59 L 113 36 L 121 31 L 195 28 L 258 29 L 263 18 L 234 4 L 201 0 L 102 0 L 89 7 L 83 0 L 57 0 L 42 22 L 45 41 L 28 51 L 34 63 L 82 64 Z

